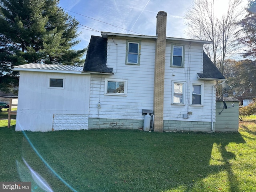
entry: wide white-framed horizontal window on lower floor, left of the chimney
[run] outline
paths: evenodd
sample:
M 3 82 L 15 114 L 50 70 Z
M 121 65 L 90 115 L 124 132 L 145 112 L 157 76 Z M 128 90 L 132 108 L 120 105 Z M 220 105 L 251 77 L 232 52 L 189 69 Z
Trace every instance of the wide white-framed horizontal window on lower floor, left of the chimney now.
M 127 80 L 105 79 L 105 95 L 127 96 Z

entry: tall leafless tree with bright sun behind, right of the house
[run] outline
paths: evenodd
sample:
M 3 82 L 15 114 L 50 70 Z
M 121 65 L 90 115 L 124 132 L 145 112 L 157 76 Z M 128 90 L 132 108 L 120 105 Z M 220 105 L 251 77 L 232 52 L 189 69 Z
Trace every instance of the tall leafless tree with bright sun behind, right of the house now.
M 220 62 L 220 72 L 224 72 L 224 60 L 234 50 L 236 23 L 242 16 L 242 0 L 229 0 L 226 13 L 217 16 L 214 10 L 214 0 L 194 0 L 185 14 L 188 30 L 186 34 L 191 38 L 210 40 L 204 51 L 213 63 Z M 240 11 L 238 11 L 240 10 Z

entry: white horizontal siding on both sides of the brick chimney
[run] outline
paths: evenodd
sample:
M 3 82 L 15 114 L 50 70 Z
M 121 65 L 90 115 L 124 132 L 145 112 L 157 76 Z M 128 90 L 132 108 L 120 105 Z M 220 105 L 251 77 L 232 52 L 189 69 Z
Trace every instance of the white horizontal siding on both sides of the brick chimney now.
M 92 75 L 89 118 L 143 120 L 142 109 L 153 110 L 155 45 L 154 40 L 141 40 L 140 65 L 128 65 L 126 64 L 127 39 L 116 37 L 114 42 L 112 38 L 108 39 L 107 67 L 113 68 L 113 75 Z M 197 74 L 203 72 L 202 44 L 184 44 L 183 67 L 170 67 L 172 45 L 172 42 L 166 42 L 164 120 L 211 122 L 214 81 L 204 82 L 204 106 L 190 105 L 190 82 L 199 83 Z M 127 96 L 104 94 L 105 78 L 128 80 Z M 184 104 L 173 104 L 173 82 L 184 83 Z M 99 102 L 101 107 L 97 108 Z M 188 111 L 193 114 L 190 118 L 183 119 L 181 114 L 187 114 Z

